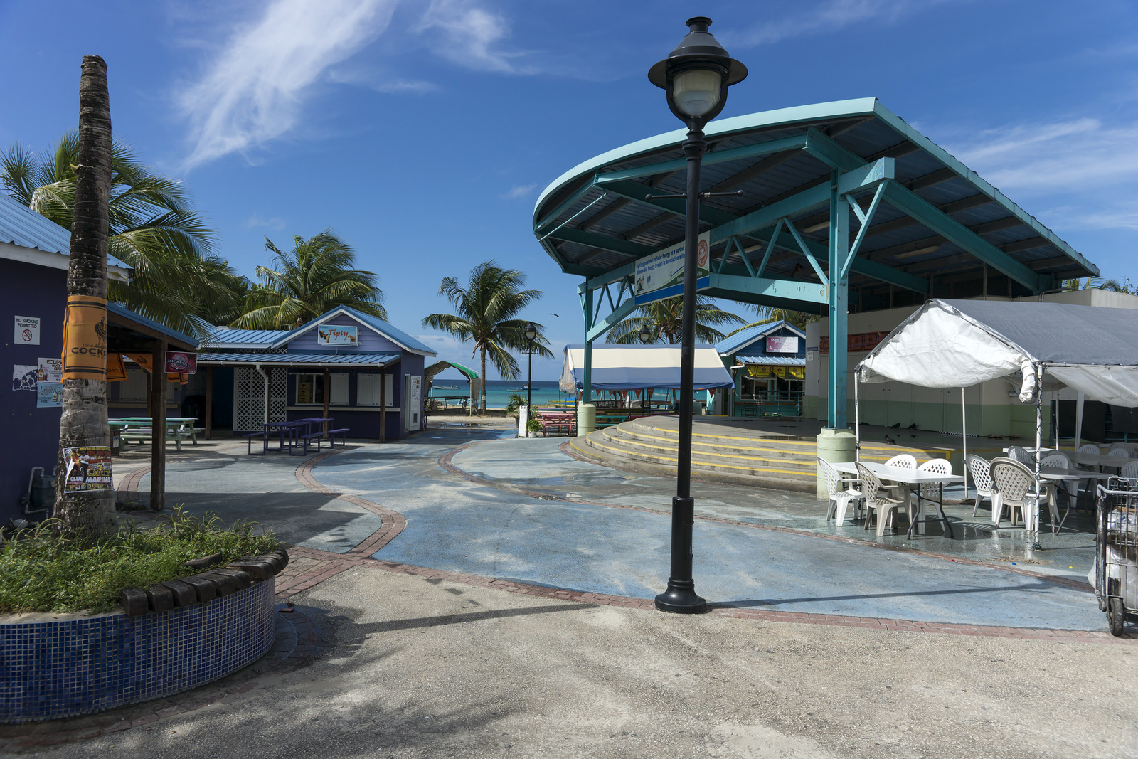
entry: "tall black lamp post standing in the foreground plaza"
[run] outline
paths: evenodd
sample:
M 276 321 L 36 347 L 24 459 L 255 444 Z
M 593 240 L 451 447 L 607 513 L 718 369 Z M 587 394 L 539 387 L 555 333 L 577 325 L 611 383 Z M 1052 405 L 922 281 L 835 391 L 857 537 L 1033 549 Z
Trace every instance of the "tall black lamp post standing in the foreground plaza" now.
M 707 611 L 692 579 L 692 398 L 695 396 L 695 278 L 700 236 L 700 164 L 707 142 L 703 125 L 727 102 L 727 88 L 743 81 L 747 66 L 727 55 L 708 26 L 711 19 L 687 19 L 688 32 L 667 58 L 652 66 L 648 79 L 668 93 L 668 107 L 687 125 L 687 217 L 684 249 L 684 313 L 679 360 L 679 451 L 676 457 L 676 496 L 671 500 L 671 567 L 668 589 L 655 596 L 655 608 L 682 614 Z M 735 195 L 735 193 L 732 193 Z

